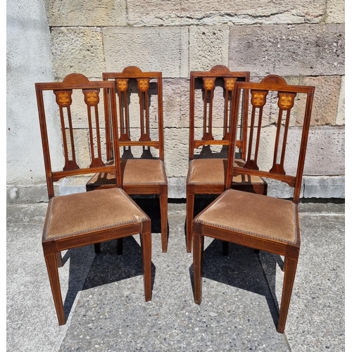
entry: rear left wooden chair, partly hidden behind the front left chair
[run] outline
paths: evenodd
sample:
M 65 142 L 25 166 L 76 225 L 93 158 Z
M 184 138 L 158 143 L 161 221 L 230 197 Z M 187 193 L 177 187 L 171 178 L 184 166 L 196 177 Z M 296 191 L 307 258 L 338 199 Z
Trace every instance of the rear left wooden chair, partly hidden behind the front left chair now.
M 161 211 L 161 246 L 162 251 L 166 252 L 168 251 L 168 180 L 164 165 L 161 72 L 142 72 L 137 67 L 129 66 L 122 73 L 103 73 L 103 80 L 113 80 L 117 92 L 119 143 L 123 148 L 122 189 L 127 194 L 158 195 Z M 111 155 L 110 134 L 108 130 L 106 131 L 107 153 Z M 139 151 L 137 148 L 142 150 Z M 100 172 L 87 182 L 87 191 L 106 189 L 113 187 L 113 184 L 115 184 L 113 175 Z M 96 250 L 99 251 L 99 248 Z

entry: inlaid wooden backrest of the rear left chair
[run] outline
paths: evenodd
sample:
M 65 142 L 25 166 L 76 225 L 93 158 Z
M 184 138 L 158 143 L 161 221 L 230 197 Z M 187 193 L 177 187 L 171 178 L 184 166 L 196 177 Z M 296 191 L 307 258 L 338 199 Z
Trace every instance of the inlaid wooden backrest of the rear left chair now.
M 141 146 L 140 157 L 164 160 L 161 72 L 142 72 L 136 66 L 128 66 L 122 73 L 103 73 L 103 80 L 115 82 L 122 158 L 131 155 L 131 147 Z M 107 134 L 106 139 L 109 138 Z M 158 153 L 153 153 L 151 147 Z

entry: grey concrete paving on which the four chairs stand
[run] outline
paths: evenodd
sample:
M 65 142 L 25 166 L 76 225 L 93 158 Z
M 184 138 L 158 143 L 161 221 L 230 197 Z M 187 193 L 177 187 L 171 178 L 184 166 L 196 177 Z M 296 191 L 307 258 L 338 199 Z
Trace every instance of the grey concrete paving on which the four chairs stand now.
M 161 252 L 156 199 L 137 201 L 152 219 L 153 297 L 144 301 L 139 237 L 122 256 L 106 242 L 66 251 L 59 269 L 66 325 L 58 326 L 42 253 L 46 203 L 7 206 L 7 351 L 344 351 L 344 204 L 300 205 L 301 255 L 284 334 L 277 306 L 282 258 L 206 241 L 203 301 L 194 303 L 186 252 L 186 204 L 169 203 Z M 199 207 L 203 206 L 199 201 Z

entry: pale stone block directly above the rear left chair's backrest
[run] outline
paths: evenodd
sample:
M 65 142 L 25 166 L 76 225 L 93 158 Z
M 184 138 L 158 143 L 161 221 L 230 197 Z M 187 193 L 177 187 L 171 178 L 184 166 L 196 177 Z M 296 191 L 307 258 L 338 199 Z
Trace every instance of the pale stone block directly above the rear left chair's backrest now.
M 106 70 L 122 72 L 128 63 L 163 77 L 188 77 L 188 37 L 182 27 L 104 28 Z

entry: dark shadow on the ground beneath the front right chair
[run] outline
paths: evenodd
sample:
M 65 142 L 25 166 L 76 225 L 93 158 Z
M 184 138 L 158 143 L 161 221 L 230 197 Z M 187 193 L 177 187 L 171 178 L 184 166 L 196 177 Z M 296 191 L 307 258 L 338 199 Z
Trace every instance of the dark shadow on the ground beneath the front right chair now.
M 264 296 L 272 320 L 277 327 L 279 304 L 275 294 L 276 266 L 283 268 L 282 258 L 265 252 L 265 265 L 260 252 L 249 247 L 230 244 L 228 256 L 222 255 L 222 241 L 214 239 L 203 252 L 203 278 L 227 284 Z M 194 269 L 189 267 L 194 293 Z

